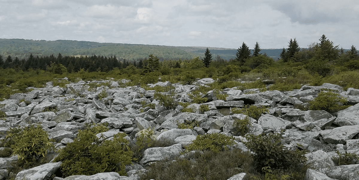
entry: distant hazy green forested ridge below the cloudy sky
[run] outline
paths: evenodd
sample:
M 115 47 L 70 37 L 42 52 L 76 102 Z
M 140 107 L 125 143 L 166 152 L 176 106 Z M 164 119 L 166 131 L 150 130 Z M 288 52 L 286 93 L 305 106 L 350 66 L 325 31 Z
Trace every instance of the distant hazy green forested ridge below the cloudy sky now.
M 145 44 L 123 44 L 123 43 L 98 43 L 90 41 L 74 40 L 32 40 L 32 39 L 0 39 L 0 55 L 5 59 L 7 56 L 27 59 L 33 56 L 116 56 L 118 59 L 134 61 L 148 58 L 150 54 L 157 56 L 160 60 L 185 60 L 194 57 L 202 58 L 207 47 L 185 47 L 185 46 L 160 46 Z M 236 58 L 237 49 L 208 47 L 212 57 L 217 55 L 225 60 Z M 260 53 L 277 60 L 282 49 L 262 49 Z

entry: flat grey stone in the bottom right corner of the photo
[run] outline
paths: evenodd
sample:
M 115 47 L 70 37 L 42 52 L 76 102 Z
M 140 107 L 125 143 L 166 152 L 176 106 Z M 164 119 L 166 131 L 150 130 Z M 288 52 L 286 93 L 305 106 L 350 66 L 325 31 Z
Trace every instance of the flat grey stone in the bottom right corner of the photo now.
M 336 178 L 336 179 L 359 179 L 359 164 L 353 165 L 341 165 L 332 167 L 326 174 L 328 177 Z

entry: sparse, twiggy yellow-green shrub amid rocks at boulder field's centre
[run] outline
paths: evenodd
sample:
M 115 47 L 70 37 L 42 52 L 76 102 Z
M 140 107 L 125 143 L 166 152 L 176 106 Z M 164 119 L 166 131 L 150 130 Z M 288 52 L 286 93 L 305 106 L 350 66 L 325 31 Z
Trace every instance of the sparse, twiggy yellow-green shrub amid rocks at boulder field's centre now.
M 167 110 L 174 109 L 177 106 L 175 101 L 176 93 L 174 93 L 174 87 L 172 85 L 169 86 L 156 86 L 156 92 L 153 95 L 154 99 L 159 101 L 160 105 L 163 105 Z

